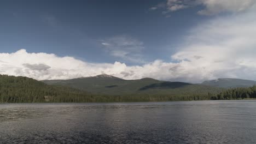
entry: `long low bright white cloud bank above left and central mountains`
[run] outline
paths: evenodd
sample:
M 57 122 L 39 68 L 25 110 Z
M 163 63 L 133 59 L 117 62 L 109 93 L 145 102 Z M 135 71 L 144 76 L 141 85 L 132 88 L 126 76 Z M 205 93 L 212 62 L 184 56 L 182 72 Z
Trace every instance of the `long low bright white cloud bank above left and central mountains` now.
M 173 77 L 168 71 L 175 63 L 156 60 L 142 66 L 127 66 L 124 63 L 88 63 L 73 57 L 58 57 L 48 53 L 28 53 L 22 49 L 14 53 L 0 53 L 0 74 L 27 76 L 37 80 L 73 79 L 76 77 L 109 74 L 124 79 L 154 77 L 167 79 Z

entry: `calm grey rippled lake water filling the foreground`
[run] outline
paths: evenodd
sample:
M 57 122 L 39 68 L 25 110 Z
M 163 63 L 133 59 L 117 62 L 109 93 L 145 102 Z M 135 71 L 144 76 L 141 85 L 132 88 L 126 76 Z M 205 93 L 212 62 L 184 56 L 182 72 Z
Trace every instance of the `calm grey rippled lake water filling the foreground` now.
M 0 143 L 256 143 L 256 101 L 0 104 Z

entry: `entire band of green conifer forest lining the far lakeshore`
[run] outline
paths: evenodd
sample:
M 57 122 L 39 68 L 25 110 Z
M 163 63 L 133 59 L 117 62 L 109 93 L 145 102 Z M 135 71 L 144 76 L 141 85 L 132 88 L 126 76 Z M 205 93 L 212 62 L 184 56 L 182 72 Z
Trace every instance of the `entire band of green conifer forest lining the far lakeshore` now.
M 156 84 L 158 86 L 161 83 Z M 170 87 L 168 88 L 170 89 Z M 205 87 L 193 85 L 193 87 L 185 86 L 183 89 L 172 88 L 172 91 L 153 89 L 121 95 L 95 94 L 68 86 L 48 85 L 28 77 L 0 75 L 0 103 L 114 103 L 256 99 L 256 86 L 230 89 L 207 87 L 209 89 L 202 91 L 203 88 Z M 161 92 L 158 93 L 158 91 Z

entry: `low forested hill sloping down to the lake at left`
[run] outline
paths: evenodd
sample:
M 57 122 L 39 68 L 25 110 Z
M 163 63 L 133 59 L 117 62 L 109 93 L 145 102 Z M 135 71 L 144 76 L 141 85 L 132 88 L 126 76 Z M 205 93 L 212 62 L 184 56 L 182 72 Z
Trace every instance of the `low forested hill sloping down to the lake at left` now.
M 0 75 L 0 103 L 89 102 L 92 95 L 22 76 Z

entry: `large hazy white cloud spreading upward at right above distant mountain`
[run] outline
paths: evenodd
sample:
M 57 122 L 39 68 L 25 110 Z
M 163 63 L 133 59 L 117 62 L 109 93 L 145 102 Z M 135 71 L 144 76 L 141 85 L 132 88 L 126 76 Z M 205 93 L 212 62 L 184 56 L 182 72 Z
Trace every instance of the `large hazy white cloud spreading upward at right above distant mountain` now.
M 254 8 L 246 13 L 218 17 L 193 28 L 186 44 L 172 58 L 187 63 L 187 73 L 200 74 L 201 79 L 255 80 L 255 11 Z

